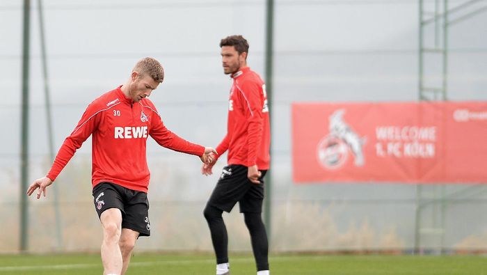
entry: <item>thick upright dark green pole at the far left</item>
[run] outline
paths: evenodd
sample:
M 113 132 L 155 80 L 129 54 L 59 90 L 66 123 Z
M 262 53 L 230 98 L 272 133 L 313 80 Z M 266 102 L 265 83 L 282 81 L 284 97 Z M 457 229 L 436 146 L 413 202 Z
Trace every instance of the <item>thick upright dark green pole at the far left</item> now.
M 24 0 L 24 26 L 22 35 L 22 127 L 20 148 L 20 251 L 25 252 L 29 246 L 29 212 L 27 208 L 27 180 L 29 180 L 29 36 L 30 36 L 31 1 Z

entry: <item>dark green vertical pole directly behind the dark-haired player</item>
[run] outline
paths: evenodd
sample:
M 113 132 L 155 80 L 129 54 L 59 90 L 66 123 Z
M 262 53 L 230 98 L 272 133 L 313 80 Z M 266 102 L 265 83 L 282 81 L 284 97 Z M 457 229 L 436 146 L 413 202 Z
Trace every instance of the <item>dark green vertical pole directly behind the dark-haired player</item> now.
M 269 122 L 271 123 L 271 136 L 272 135 L 272 69 L 273 69 L 273 17 L 274 17 L 274 1 L 267 0 L 266 2 L 266 92 L 267 92 L 267 104 L 269 107 Z M 272 143 L 271 143 L 271 156 L 272 156 Z M 273 159 L 271 157 L 271 164 Z M 272 166 L 272 165 L 271 165 Z M 267 235 L 269 238 L 269 244 L 271 244 L 271 198 L 272 198 L 272 169 L 269 169 L 269 173 L 266 174 L 266 199 L 264 201 L 264 223 L 266 224 Z

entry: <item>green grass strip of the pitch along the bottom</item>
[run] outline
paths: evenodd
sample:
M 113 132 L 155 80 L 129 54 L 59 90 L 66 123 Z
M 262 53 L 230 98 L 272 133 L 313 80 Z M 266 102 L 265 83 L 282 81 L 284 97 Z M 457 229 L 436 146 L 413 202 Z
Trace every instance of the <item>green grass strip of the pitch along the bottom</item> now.
M 273 255 L 269 258 L 271 274 L 307 275 L 487 275 L 484 256 L 328 256 Z M 250 255 L 230 255 L 232 275 L 255 274 Z M 0 255 L 3 274 L 102 274 L 98 254 L 52 254 L 44 256 Z M 214 274 L 211 254 L 136 253 L 127 275 L 143 274 Z

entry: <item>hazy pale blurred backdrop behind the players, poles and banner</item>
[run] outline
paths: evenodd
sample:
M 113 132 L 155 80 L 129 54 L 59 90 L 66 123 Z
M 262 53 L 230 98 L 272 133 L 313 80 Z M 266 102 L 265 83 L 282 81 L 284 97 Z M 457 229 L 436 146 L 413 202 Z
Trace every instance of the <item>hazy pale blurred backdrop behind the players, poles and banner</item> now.
M 98 251 L 102 231 L 91 196 L 91 139 L 54 183 L 58 196 L 52 187 L 46 198 L 27 200 L 21 245 L 23 5 L 0 2 L 0 252 Z M 29 184 L 51 166 L 45 83 L 57 152 L 88 104 L 125 83 L 145 56 L 157 58 L 166 71 L 150 99 L 168 129 L 217 146 L 226 131 L 232 83 L 223 74 L 218 43 L 243 35 L 250 44 L 248 65 L 266 77 L 267 5 L 265 0 L 43 0 L 40 9 L 39 1 L 31 1 Z M 486 7 L 485 0 L 273 1 L 272 168 L 266 187 L 271 251 L 487 250 L 482 184 L 293 182 L 290 112 L 293 102 L 487 100 Z M 451 21 L 446 26 L 445 10 Z M 420 18 L 430 18 L 429 24 L 420 26 Z M 428 47 L 445 51 L 447 63 Z M 420 79 L 440 89 L 422 91 Z M 139 239 L 136 249 L 212 251 L 202 210 L 224 159 L 205 177 L 198 158 L 161 148 L 152 139 L 147 144 L 152 235 Z M 487 157 L 478 165 L 486 164 Z M 238 206 L 224 217 L 230 250 L 250 251 Z

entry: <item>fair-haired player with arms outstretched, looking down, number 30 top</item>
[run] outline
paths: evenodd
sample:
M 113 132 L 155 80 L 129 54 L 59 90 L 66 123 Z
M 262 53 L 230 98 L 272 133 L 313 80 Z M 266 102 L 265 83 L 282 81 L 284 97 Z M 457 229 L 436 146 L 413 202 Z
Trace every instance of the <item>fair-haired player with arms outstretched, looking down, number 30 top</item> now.
M 136 63 L 125 84 L 91 102 L 74 131 L 59 149 L 49 173 L 35 180 L 37 198 L 52 184 L 88 136 L 93 135 L 93 202 L 103 228 L 102 262 L 105 275 L 125 274 L 139 236 L 150 235 L 147 188 L 147 137 L 161 146 L 197 155 L 211 162 L 213 148 L 190 143 L 164 126 L 148 97 L 164 79 L 154 58 Z

